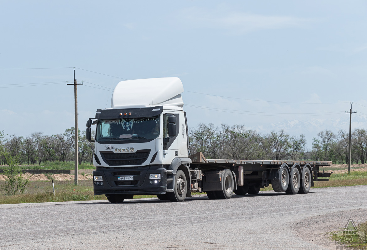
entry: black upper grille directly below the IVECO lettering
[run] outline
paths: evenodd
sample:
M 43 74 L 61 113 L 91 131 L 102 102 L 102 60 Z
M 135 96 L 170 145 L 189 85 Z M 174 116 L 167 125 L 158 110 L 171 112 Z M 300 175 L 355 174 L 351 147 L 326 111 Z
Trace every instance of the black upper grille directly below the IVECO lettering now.
M 146 161 L 150 153 L 148 150 L 138 150 L 135 153 L 101 152 L 103 160 L 109 166 L 141 165 Z

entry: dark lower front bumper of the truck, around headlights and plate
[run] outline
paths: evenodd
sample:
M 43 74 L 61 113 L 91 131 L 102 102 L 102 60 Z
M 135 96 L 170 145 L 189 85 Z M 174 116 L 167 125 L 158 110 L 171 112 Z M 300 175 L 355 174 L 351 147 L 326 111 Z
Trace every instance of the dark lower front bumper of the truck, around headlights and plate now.
M 101 181 L 93 181 L 94 195 L 106 194 L 164 194 L 167 191 L 166 169 L 143 166 L 143 167 L 119 167 L 104 168 L 102 170 L 93 171 L 93 180 L 95 175 L 101 175 Z M 149 180 L 149 174 L 160 174 L 160 180 Z M 118 176 L 133 176 L 134 180 L 119 181 Z M 157 183 L 155 183 L 157 181 Z M 150 183 L 152 182 L 152 183 Z

